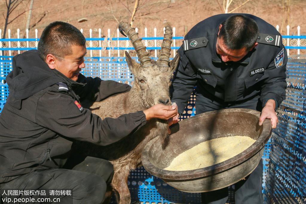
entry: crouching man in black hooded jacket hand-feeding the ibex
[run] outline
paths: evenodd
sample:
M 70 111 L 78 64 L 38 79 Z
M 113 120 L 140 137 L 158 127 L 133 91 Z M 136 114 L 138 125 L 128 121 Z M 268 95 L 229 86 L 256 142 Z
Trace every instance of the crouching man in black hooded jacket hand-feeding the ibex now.
M 85 41 L 74 26 L 53 22 L 43 31 L 38 52 L 13 57 L 13 71 L 6 77 L 10 93 L 0 116 L 3 199 L 4 189 L 51 188 L 72 189 L 72 195 L 55 195 L 62 203 L 101 203 L 113 166 L 99 158 L 79 158 L 71 152 L 73 140 L 108 145 L 151 118 L 169 119 L 177 114 L 176 106 L 159 104 L 102 120 L 84 109 L 82 98 L 101 101 L 130 89 L 127 84 L 80 74 L 85 67 Z

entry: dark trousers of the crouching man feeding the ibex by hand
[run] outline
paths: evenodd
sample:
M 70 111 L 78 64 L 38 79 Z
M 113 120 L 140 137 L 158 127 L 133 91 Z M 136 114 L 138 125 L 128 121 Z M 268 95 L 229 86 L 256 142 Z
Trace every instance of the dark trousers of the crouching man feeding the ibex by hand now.
M 49 197 L 60 198 L 59 203 L 71 204 L 101 203 L 103 201 L 106 185 L 110 184 L 114 175 L 113 165 L 109 161 L 77 156 L 69 158 L 64 168 L 67 169 L 37 170 L 22 175 L 5 184 L 0 184 L 0 192 L 3 189 L 72 189 L 72 195 Z M 2 195 L 2 197 L 9 196 Z M 42 198 L 42 196 L 31 197 Z

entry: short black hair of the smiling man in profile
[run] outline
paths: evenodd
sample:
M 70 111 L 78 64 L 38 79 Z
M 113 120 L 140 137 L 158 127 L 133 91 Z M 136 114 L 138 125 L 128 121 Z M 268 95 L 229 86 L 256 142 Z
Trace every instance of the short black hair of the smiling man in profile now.
M 53 54 L 62 60 L 66 55 L 72 54 L 72 45 L 86 46 L 84 35 L 69 23 L 54 21 L 43 30 L 37 49 L 43 61 L 47 54 Z

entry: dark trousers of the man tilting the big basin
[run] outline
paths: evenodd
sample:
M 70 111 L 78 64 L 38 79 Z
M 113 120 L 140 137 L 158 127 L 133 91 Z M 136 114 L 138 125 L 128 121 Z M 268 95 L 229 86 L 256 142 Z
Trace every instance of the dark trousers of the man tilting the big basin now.
M 197 90 L 196 95 L 196 114 L 205 113 L 208 111 L 226 109 L 226 108 L 246 108 L 253 110 L 262 110 L 262 105 L 259 96 L 244 101 L 240 104 L 231 104 L 220 102 L 212 97 Z M 248 175 L 245 180 L 237 182 L 235 185 L 235 203 L 236 204 L 263 204 L 262 194 L 263 182 L 263 163 L 259 162 L 256 169 Z M 228 199 L 228 187 L 216 191 L 201 193 L 202 203 L 205 204 L 225 204 Z

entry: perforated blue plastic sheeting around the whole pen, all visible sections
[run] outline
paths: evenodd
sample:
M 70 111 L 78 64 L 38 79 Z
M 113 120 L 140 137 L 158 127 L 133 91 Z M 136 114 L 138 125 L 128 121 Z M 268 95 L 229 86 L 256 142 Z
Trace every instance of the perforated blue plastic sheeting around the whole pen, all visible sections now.
M 0 57 L 1 112 L 9 94 L 5 78 L 12 69 L 12 57 Z M 136 57 L 133 58 L 137 60 Z M 85 64 L 86 67 L 82 71 L 85 76 L 129 84 L 133 81 L 125 57 L 85 57 Z M 272 136 L 273 144 L 271 145 L 269 140 L 263 154 L 265 203 L 306 203 L 305 64 L 305 56 L 292 57 L 288 60 L 287 98 L 277 111 L 279 124 Z M 196 97 L 193 92 L 181 119 L 196 113 L 195 104 Z M 272 150 L 271 155 L 270 150 Z M 146 204 L 201 202 L 199 193 L 178 191 L 147 173 L 143 167 L 131 171 L 128 184 L 132 201 Z M 229 187 L 229 190 L 230 199 L 233 199 L 233 188 Z

